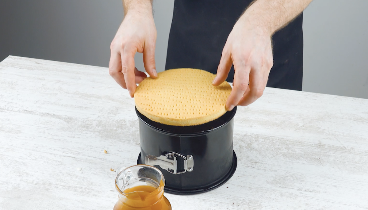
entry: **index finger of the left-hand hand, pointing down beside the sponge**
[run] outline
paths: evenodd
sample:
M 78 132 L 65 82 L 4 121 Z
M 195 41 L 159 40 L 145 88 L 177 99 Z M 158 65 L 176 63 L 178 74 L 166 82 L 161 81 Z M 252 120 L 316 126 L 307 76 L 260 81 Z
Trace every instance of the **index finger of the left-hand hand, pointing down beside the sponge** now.
M 125 84 L 129 90 L 130 97 L 134 97 L 135 89 L 137 84 L 135 83 L 134 74 L 134 55 L 137 52 L 135 50 L 122 50 L 121 51 L 121 72 L 124 75 Z

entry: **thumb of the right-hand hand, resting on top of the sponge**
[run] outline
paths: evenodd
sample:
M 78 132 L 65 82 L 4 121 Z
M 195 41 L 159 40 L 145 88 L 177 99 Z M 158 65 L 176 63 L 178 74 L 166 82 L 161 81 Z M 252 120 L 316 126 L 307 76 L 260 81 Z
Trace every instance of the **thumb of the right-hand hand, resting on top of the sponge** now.
M 226 80 L 227 75 L 229 75 L 231 65 L 233 65 L 233 61 L 231 60 L 231 51 L 225 45 L 222 50 L 219 67 L 217 67 L 217 74 L 212 85 L 218 86 Z

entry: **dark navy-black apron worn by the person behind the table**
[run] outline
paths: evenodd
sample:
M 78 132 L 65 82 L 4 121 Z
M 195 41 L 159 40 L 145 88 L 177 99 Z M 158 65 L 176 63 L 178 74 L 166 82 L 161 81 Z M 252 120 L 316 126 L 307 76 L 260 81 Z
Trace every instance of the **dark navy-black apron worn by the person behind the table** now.
M 198 68 L 216 74 L 227 36 L 251 0 L 175 0 L 165 70 Z M 302 14 L 273 37 L 267 86 L 301 90 Z M 233 82 L 234 67 L 226 81 Z

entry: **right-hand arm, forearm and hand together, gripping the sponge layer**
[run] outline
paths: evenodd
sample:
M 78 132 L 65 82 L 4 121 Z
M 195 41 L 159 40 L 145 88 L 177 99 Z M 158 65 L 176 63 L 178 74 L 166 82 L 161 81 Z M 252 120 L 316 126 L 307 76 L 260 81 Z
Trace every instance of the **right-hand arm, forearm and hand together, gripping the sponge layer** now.
M 213 85 L 224 82 L 234 64 L 226 109 L 247 106 L 262 96 L 273 66 L 271 37 L 312 0 L 256 0 L 234 25 L 222 51 Z

